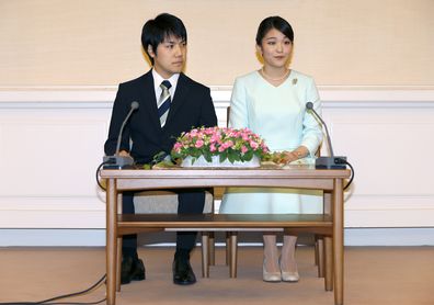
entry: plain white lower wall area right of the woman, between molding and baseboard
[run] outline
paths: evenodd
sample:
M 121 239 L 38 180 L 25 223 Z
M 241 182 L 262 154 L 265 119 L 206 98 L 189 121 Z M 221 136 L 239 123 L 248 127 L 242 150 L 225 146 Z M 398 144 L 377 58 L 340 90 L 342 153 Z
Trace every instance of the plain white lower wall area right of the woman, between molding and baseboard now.
M 356 172 L 346 194 L 346 227 L 434 225 L 434 108 L 411 105 L 326 103 L 334 154 L 347 156 Z

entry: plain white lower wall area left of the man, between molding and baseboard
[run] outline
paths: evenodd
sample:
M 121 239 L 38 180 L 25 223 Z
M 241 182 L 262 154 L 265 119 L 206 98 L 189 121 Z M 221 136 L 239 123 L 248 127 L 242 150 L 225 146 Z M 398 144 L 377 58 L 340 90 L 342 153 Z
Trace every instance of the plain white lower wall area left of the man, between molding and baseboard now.
M 0 227 L 104 227 L 95 170 L 111 111 L 41 105 L 37 99 L 1 110 Z

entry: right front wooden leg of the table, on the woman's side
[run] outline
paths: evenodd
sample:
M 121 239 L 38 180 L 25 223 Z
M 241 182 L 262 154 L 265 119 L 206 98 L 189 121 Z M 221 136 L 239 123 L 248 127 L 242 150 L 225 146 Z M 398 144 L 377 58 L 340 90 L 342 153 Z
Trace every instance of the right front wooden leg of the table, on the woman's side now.
M 334 179 L 333 188 L 333 269 L 334 304 L 343 304 L 344 295 L 344 252 L 343 252 L 343 180 Z

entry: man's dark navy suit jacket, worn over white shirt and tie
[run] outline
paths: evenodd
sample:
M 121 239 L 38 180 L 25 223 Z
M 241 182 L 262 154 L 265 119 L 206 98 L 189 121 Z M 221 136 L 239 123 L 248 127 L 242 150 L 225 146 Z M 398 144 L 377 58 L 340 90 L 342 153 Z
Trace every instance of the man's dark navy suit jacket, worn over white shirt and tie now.
M 115 152 L 122 122 L 134 101 L 139 103 L 139 109 L 133 112 L 125 125 L 121 150 L 129 151 L 137 163 L 150 162 L 160 151 L 170 154 L 182 132 L 190 132 L 193 127 L 217 125 L 209 88 L 181 74 L 165 125 L 161 127 L 150 70 L 137 79 L 119 84 L 113 105 L 108 138 L 104 145 L 106 155 Z

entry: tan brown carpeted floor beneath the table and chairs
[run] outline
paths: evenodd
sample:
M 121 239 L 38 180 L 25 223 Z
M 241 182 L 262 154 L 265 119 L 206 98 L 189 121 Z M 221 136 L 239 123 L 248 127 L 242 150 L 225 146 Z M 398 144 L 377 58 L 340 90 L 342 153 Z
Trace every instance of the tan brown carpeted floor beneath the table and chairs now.
M 306 304 L 332 305 L 317 278 L 313 249 L 297 249 L 299 283 L 262 281 L 262 248 L 240 247 L 238 278 L 229 279 L 222 248 L 210 278 L 201 278 L 199 251 L 192 264 L 198 282 L 171 282 L 172 248 L 141 248 L 147 280 L 122 287 L 116 304 Z M 90 287 L 105 272 L 103 248 L 1 248 L 0 302 L 34 302 Z M 345 248 L 345 304 L 433 305 L 434 247 Z M 92 302 L 105 297 L 105 286 L 88 295 L 58 302 Z M 104 304 L 104 303 L 102 303 Z

